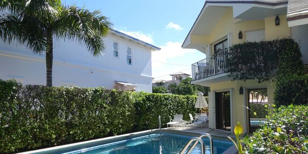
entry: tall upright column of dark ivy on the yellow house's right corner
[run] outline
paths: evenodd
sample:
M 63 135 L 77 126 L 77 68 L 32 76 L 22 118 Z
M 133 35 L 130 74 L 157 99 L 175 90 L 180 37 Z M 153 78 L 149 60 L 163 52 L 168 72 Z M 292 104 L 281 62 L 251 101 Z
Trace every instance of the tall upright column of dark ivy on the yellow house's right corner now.
M 276 105 L 308 104 L 308 75 L 301 61 L 300 46 L 294 40 L 281 40 L 274 99 Z M 292 56 L 291 56 L 292 55 Z

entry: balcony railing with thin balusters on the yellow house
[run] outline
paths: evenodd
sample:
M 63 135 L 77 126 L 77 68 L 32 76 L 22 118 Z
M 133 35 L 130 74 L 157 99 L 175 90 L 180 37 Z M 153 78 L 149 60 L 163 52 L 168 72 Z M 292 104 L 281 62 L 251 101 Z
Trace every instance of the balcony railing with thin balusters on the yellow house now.
M 228 50 L 222 50 L 191 65 L 192 81 L 225 73 Z

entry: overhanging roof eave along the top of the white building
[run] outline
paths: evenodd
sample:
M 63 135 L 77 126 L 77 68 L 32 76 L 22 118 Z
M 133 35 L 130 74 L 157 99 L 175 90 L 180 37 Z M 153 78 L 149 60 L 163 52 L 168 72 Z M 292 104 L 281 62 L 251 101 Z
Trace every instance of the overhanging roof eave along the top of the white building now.
M 115 30 L 115 29 L 110 29 L 110 33 L 115 35 L 115 36 L 120 36 L 120 37 L 122 37 L 122 38 L 124 38 L 126 40 L 129 40 L 129 41 L 132 41 L 134 43 L 137 43 L 139 45 L 143 45 L 143 46 L 145 46 L 147 48 L 150 48 L 152 51 L 158 51 L 158 50 L 161 49 L 161 48 L 159 48 L 159 47 L 157 47 L 155 45 L 151 45 L 151 44 L 146 43 L 146 42 L 144 42 L 142 40 L 139 40 L 138 38 L 132 37 L 130 35 L 127 35 L 125 33 L 122 33 L 120 31 L 118 31 L 118 30 Z

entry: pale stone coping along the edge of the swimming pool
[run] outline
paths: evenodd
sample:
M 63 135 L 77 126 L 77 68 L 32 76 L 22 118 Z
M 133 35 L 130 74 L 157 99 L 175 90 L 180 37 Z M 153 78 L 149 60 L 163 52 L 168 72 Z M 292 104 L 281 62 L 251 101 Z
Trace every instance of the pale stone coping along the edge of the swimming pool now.
M 186 136 L 195 136 L 198 137 L 202 132 L 197 132 L 197 131 L 187 131 L 187 130 L 170 130 L 170 129 L 161 129 L 162 133 L 175 133 L 175 134 L 181 134 L 181 135 L 186 135 Z M 74 149 L 82 149 L 86 148 L 89 146 L 94 146 L 94 145 L 99 145 L 99 144 L 106 144 L 110 142 L 117 142 L 121 140 L 128 140 L 131 138 L 136 138 L 140 136 L 146 136 L 148 134 L 152 133 L 159 133 L 159 129 L 150 129 L 150 130 L 145 130 L 145 131 L 139 131 L 139 132 L 132 132 L 132 133 L 127 133 L 127 134 L 121 134 L 119 136 L 112 136 L 112 137 L 106 137 L 106 138 L 101 138 L 101 139 L 95 139 L 95 140 L 89 140 L 89 141 L 83 141 L 83 142 L 78 142 L 78 143 L 71 143 L 71 144 L 66 144 L 66 145 L 59 145 L 59 146 L 54 146 L 54 147 L 49 147 L 49 148 L 44 148 L 44 149 L 37 149 L 37 150 L 31 150 L 31 151 L 26 151 L 26 152 L 21 152 L 24 154 L 28 153 L 59 153 L 63 151 L 69 151 L 69 150 L 74 150 Z M 226 136 L 222 136 L 219 134 L 211 134 L 213 139 L 220 139 L 220 140 L 226 140 Z M 235 145 L 231 146 L 228 148 L 226 151 L 223 153 L 237 153 L 237 149 Z

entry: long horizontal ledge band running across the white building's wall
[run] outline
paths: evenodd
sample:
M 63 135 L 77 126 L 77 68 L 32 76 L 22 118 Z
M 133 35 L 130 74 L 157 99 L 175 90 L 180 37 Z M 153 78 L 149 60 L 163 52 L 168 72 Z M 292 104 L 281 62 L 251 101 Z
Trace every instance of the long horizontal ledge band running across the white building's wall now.
M 10 53 L 10 52 L 1 51 L 1 50 L 0 50 L 0 56 L 14 57 L 14 58 L 28 60 L 28 61 L 45 63 L 45 59 L 43 59 L 41 57 Z M 81 64 L 76 64 L 76 63 L 67 63 L 67 62 L 64 63 L 63 61 L 59 61 L 59 60 L 55 60 L 55 59 L 53 60 L 53 64 L 61 65 L 61 66 L 68 66 L 68 67 L 73 67 L 73 68 L 87 69 L 87 70 L 91 70 L 91 71 L 95 70 L 95 71 L 100 71 L 100 72 L 110 72 L 110 73 L 116 73 L 116 74 L 130 75 L 130 76 L 136 76 L 136 77 L 139 77 L 139 78 L 140 77 L 153 78 L 152 76 L 144 75 L 144 74 L 132 74 L 132 73 L 126 72 L 126 71 L 118 71 L 118 70 L 112 70 L 112 69 L 106 69 L 106 68 L 101 69 L 101 68 L 98 68 L 98 67 L 81 65 Z

